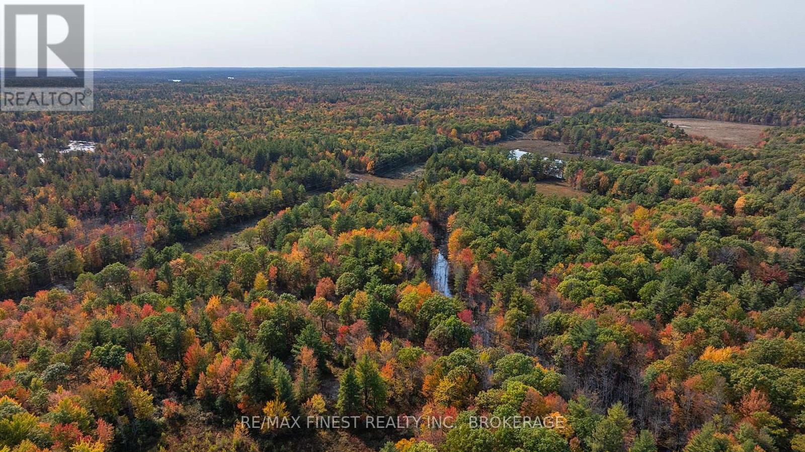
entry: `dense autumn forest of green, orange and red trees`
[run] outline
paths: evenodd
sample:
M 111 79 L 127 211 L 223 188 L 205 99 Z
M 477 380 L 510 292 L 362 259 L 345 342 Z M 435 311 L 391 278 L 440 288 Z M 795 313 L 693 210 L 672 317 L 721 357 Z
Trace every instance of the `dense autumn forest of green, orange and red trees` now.
M 805 452 L 803 78 L 109 71 L 0 113 L 0 450 Z

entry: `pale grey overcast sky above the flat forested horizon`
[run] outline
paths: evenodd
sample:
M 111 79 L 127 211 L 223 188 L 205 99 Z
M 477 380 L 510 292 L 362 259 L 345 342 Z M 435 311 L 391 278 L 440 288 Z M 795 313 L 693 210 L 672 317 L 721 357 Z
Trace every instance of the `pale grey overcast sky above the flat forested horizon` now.
M 795 0 L 98 0 L 96 68 L 805 67 Z

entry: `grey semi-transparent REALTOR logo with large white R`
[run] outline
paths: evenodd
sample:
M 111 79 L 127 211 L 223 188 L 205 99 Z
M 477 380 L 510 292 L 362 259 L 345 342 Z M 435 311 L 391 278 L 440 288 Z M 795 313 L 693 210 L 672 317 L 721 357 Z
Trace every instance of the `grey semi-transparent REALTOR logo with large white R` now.
M 84 5 L 6 5 L 0 111 L 93 108 Z

